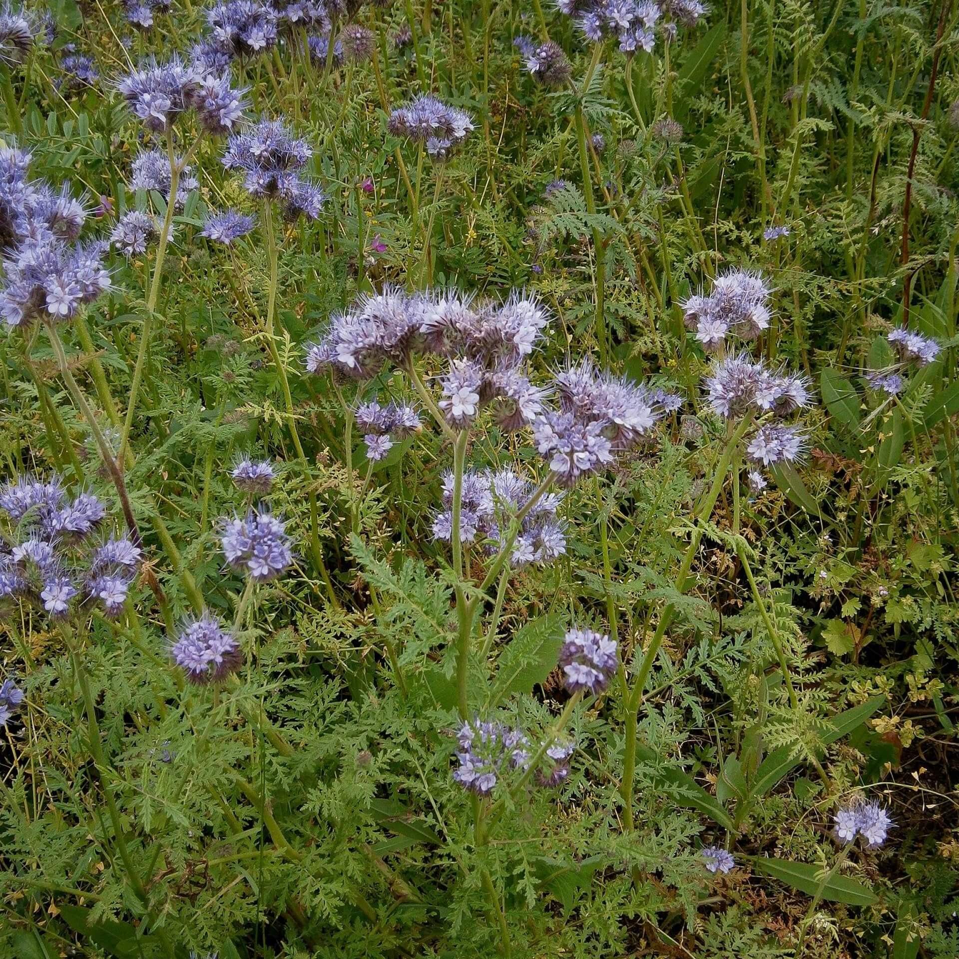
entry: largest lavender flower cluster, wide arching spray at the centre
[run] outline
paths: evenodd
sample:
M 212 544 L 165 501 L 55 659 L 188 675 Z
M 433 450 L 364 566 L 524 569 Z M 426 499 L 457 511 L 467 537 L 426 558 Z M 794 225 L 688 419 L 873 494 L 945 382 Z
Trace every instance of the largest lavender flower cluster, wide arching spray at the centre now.
M 682 400 L 581 364 L 557 375 L 559 409 L 548 409 L 550 389 L 530 382 L 527 364 L 549 320 L 535 299 L 515 292 L 501 305 L 387 288 L 334 316 L 308 347 L 306 366 L 367 379 L 385 363 L 409 367 L 417 352 L 445 357 L 448 372 L 436 379 L 446 422 L 467 429 L 488 406 L 504 430 L 531 426 L 556 480 L 572 486 L 635 447 Z

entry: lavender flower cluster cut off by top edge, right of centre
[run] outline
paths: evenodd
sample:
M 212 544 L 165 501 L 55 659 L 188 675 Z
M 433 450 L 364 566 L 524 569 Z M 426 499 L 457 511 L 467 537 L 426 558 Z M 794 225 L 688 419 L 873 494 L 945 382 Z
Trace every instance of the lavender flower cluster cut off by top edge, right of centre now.
M 572 16 L 588 40 L 600 43 L 611 37 L 624 54 L 651 53 L 661 19 L 671 39 L 678 24 L 693 27 L 705 12 L 699 0 L 556 0 L 556 8 Z

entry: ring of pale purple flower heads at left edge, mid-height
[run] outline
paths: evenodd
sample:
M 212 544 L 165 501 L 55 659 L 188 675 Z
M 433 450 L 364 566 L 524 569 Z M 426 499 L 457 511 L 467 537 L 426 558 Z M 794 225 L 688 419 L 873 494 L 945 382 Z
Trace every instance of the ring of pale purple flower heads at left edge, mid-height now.
M 96 496 L 68 500 L 57 478 L 26 476 L 0 490 L 0 509 L 17 534 L 15 545 L 0 552 L 0 596 L 41 603 L 52 617 L 67 616 L 76 596 L 99 602 L 107 616 L 120 613 L 141 550 L 113 534 L 89 541 L 106 520 Z

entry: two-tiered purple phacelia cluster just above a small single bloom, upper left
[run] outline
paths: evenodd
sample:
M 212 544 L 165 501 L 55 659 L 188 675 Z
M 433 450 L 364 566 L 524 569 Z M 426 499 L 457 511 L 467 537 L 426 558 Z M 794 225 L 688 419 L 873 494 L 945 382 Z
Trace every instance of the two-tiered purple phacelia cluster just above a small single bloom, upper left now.
M 223 166 L 244 174 L 246 192 L 255 199 L 275 199 L 286 205 L 288 219 L 305 214 L 319 217 L 323 191 L 302 175 L 313 150 L 292 136 L 279 120 L 261 120 L 231 136 Z

